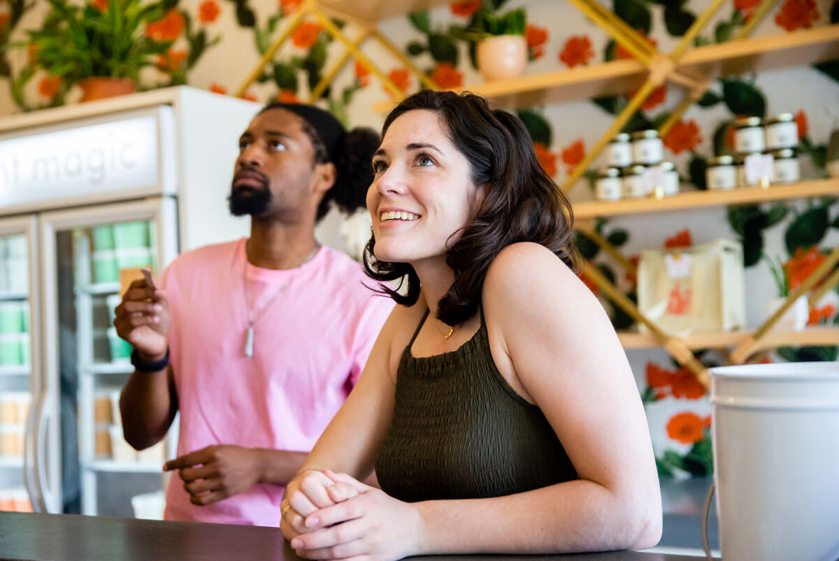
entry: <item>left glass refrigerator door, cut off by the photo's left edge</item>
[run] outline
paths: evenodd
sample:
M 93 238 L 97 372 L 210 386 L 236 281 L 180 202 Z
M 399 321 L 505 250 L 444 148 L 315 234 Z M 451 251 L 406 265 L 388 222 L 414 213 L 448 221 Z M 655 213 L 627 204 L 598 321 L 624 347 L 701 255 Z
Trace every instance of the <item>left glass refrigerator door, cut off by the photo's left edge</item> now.
M 0 221 L 0 511 L 31 512 L 27 485 L 34 479 L 28 439 L 34 424 L 33 341 L 37 316 L 32 257 L 34 218 Z M 32 282 L 30 282 L 32 281 Z M 30 414 L 31 413 L 31 414 Z

